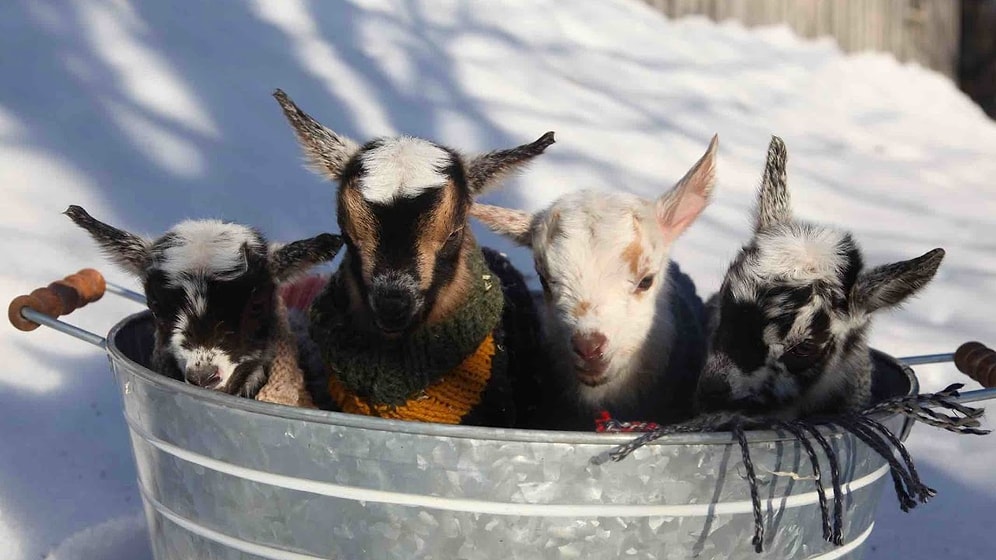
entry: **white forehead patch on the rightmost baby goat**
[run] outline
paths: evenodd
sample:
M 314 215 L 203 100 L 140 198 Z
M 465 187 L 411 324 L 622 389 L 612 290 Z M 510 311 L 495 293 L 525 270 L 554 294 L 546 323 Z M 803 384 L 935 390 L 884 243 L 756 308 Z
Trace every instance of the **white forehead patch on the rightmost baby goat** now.
M 757 274 L 798 282 L 833 279 L 846 265 L 844 234 L 829 228 L 780 228 L 757 237 Z M 755 263 L 751 263 L 755 264 Z

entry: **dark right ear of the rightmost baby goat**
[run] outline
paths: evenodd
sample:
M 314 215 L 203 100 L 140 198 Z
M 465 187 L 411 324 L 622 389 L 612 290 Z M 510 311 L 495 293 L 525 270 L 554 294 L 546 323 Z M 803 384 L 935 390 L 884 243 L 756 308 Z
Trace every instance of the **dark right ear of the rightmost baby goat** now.
M 934 249 L 915 259 L 882 265 L 858 276 L 851 290 L 851 306 L 864 313 L 902 303 L 930 282 L 944 259 Z

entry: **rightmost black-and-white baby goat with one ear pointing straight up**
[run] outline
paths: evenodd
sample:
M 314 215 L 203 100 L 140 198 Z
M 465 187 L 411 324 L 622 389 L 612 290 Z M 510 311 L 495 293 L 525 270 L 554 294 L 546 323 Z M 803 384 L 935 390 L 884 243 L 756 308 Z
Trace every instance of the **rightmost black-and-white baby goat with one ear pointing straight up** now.
M 785 144 L 773 137 L 754 236 L 710 299 L 711 344 L 698 386 L 703 410 L 797 417 L 870 404 L 871 315 L 937 272 L 943 249 L 863 270 L 851 235 L 792 218 Z

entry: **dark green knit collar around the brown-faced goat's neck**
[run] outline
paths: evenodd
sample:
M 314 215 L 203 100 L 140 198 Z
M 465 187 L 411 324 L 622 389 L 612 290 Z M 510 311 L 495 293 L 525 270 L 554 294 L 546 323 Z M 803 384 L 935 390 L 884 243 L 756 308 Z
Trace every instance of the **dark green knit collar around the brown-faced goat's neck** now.
M 311 305 L 311 336 L 325 367 L 361 397 L 402 405 L 460 365 L 498 326 L 505 303 L 501 283 L 480 249 L 472 249 L 467 260 L 473 284 L 463 305 L 445 321 L 397 339 L 353 326 L 340 267 Z

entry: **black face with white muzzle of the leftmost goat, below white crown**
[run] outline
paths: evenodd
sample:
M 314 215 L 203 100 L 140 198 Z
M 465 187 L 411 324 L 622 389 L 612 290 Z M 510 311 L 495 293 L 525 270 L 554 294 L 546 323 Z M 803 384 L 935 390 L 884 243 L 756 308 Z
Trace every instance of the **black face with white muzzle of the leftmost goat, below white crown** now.
M 164 346 L 160 354 L 167 363 L 161 367 L 172 370 L 164 373 L 231 394 L 250 396 L 258 389 L 273 359 L 268 342 L 276 330 L 276 286 L 265 255 L 249 253 L 246 263 L 245 272 L 225 276 L 230 279 L 170 279 L 161 269 L 150 271 L 145 292 Z

